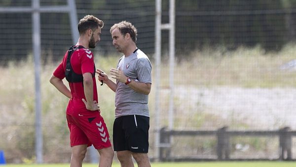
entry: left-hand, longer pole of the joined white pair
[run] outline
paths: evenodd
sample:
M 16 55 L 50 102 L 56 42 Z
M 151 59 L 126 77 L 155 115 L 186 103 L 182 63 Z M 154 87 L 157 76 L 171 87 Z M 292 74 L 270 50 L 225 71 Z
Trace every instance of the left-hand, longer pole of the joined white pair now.
M 159 143 L 160 143 L 160 111 L 159 111 L 159 94 L 160 94 L 160 55 L 161 55 L 161 0 L 155 0 L 155 159 L 159 160 Z

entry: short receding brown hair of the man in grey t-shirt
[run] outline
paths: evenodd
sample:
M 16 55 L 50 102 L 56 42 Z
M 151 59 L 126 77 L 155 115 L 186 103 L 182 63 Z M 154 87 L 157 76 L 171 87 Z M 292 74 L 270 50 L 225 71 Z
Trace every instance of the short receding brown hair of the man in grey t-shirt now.
M 111 28 L 110 28 L 110 33 L 112 33 L 112 31 L 118 28 L 119 32 L 125 36 L 126 33 L 129 33 L 133 42 L 137 42 L 137 29 L 135 26 L 132 25 L 132 23 L 128 22 L 128 21 L 121 21 L 117 24 L 114 24 Z

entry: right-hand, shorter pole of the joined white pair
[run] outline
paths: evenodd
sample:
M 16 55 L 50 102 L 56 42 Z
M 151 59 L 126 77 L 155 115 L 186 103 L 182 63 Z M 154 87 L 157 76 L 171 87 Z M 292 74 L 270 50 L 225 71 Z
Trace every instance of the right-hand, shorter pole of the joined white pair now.
M 174 128 L 174 65 L 175 65 L 175 0 L 170 0 L 170 38 L 169 38 L 169 63 L 170 63 L 170 101 L 169 101 L 169 130 Z

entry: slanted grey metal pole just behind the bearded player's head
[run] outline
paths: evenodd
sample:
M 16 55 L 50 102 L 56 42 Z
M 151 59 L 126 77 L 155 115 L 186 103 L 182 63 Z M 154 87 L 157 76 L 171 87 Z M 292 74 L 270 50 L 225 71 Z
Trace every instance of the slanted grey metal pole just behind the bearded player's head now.
M 75 44 L 78 41 L 79 33 L 77 30 L 78 20 L 76 12 L 76 4 L 74 0 L 68 0 L 68 11 L 70 17 L 71 31 L 72 31 L 72 41 Z

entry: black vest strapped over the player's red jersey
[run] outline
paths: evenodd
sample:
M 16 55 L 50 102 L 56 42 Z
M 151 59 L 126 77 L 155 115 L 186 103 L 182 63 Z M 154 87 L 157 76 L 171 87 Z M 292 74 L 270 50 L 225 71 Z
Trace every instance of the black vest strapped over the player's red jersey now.
M 66 71 L 65 71 L 65 76 L 66 76 L 66 80 L 69 83 L 83 83 L 83 76 L 82 74 L 76 74 L 73 71 L 72 65 L 71 65 L 71 56 L 74 53 L 75 50 L 80 49 L 80 48 L 84 48 L 81 45 L 78 46 L 71 46 L 68 50 L 68 56 L 67 56 L 67 64 L 66 64 Z M 94 67 L 94 72 L 92 74 L 92 77 L 95 77 L 96 74 L 96 67 Z

